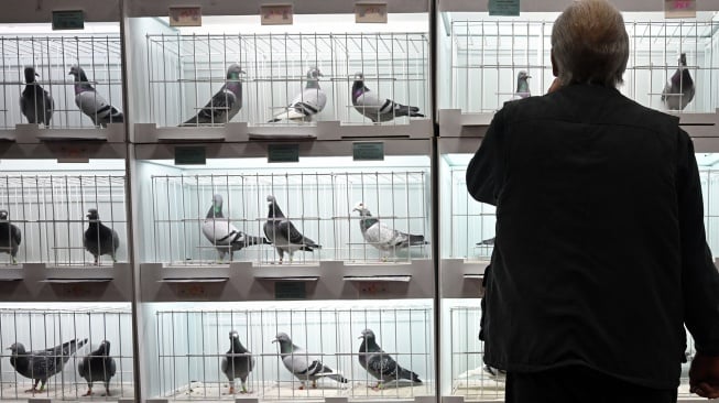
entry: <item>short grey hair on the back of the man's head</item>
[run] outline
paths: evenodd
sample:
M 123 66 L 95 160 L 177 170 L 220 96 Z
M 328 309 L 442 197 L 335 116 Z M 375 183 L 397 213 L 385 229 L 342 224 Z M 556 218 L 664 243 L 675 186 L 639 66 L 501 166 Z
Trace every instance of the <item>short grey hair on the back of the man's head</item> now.
M 629 35 L 622 14 L 606 0 L 573 2 L 554 22 L 552 55 L 563 85 L 623 84 Z

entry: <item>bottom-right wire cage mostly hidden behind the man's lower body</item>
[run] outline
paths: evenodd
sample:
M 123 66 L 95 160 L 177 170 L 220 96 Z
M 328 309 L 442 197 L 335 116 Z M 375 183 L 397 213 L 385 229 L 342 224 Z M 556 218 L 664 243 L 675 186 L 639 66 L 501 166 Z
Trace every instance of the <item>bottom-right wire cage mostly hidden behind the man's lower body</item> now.
M 483 363 L 484 344 L 479 340 L 481 309 L 479 301 L 473 305 L 454 306 L 449 309 L 451 394 L 466 401 L 504 399 L 505 373 Z M 689 397 L 689 366 L 696 349 L 687 331 L 687 362 L 682 364 L 679 396 Z

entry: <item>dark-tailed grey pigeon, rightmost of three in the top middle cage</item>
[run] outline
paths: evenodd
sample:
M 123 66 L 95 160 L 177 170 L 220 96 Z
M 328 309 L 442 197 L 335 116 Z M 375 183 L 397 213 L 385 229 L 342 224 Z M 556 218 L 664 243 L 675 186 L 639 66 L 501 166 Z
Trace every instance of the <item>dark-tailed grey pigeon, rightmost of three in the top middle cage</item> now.
M 378 98 L 374 92 L 364 86 L 364 74 L 362 72 L 355 73 L 352 105 L 358 112 L 364 115 L 374 123 L 386 122 L 401 116 L 424 118 L 417 107 L 396 104 L 392 99 Z

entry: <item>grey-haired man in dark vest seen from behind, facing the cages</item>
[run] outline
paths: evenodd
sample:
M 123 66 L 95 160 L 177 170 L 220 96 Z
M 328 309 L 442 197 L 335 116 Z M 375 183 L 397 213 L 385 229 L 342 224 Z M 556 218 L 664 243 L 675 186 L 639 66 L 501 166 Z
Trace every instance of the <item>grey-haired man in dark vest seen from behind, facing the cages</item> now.
M 691 391 L 719 396 L 694 146 L 676 117 L 617 89 L 628 58 L 621 13 L 573 2 L 549 94 L 506 102 L 467 168 L 471 196 L 497 206 L 480 337 L 506 402 L 676 402 L 685 325 Z

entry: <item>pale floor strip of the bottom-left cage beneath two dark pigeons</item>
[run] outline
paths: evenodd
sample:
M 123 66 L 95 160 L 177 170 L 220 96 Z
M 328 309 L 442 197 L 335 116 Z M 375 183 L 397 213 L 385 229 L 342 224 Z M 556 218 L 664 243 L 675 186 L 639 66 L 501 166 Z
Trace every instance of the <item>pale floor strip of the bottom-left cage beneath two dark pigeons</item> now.
M 91 396 L 83 396 L 87 392 L 86 384 L 72 384 L 65 388 L 55 384 L 46 384 L 41 393 L 25 392 L 32 388 L 30 382 L 3 383 L 0 388 L 0 400 L 3 402 L 23 402 L 29 399 L 54 399 L 64 401 L 117 401 L 118 399 L 134 396 L 134 388 L 131 383 L 111 384 L 111 395 L 105 396 L 105 386 L 96 382 L 92 386 Z

